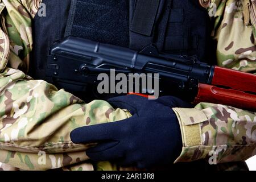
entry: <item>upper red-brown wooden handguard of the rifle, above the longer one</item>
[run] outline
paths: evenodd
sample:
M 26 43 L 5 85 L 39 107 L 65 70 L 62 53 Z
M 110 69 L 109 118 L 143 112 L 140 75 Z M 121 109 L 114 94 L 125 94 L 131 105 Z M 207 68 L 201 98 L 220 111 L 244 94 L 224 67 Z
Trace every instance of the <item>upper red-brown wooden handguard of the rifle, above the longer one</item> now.
M 256 75 L 215 67 L 211 85 L 227 86 L 235 90 L 256 93 Z

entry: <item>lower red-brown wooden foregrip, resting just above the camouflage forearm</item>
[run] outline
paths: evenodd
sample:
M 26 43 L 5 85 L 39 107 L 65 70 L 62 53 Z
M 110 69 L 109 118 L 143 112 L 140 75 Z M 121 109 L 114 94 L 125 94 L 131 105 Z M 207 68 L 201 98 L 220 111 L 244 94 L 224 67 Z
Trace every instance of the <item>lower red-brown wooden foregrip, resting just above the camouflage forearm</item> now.
M 199 92 L 194 102 L 210 102 L 250 111 L 256 110 L 256 95 L 206 84 L 199 84 Z

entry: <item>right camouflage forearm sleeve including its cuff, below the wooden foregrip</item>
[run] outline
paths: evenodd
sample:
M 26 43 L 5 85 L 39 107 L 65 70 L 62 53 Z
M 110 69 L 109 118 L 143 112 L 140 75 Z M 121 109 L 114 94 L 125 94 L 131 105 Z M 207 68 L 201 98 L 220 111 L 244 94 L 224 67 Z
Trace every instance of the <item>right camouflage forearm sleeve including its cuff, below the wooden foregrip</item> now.
M 176 162 L 208 159 L 217 164 L 256 155 L 256 113 L 209 103 L 174 111 L 183 139 L 183 151 Z

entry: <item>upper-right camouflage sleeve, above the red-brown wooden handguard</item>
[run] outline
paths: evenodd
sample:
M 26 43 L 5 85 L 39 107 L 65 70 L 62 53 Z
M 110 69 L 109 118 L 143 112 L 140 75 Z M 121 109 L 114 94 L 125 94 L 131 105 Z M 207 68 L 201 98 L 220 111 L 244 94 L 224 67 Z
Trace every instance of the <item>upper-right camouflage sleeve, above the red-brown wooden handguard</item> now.
M 209 15 L 215 23 L 212 35 L 220 67 L 256 74 L 255 2 L 212 0 Z

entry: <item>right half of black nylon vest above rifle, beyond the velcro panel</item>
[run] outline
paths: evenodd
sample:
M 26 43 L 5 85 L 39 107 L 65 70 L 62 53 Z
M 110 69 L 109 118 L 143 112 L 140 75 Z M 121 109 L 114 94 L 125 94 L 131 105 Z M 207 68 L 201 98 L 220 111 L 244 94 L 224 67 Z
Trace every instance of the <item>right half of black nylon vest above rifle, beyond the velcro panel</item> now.
M 156 2 L 152 0 L 152 2 Z M 158 0 L 158 4 L 148 0 L 130 1 L 130 48 L 141 50 L 154 44 L 159 51 L 178 55 L 197 55 L 210 63 L 210 20 L 207 10 L 197 0 Z M 142 5 L 143 6 L 142 6 Z M 147 5 L 145 7 L 145 4 Z M 158 6 L 154 14 L 151 6 Z M 154 26 L 148 26 L 147 19 L 139 19 L 143 14 L 154 18 Z M 142 14 L 142 15 L 141 15 Z M 139 20 L 138 20 L 139 19 Z M 138 25 L 146 31 L 138 31 Z M 150 32 L 150 34 L 148 34 Z

